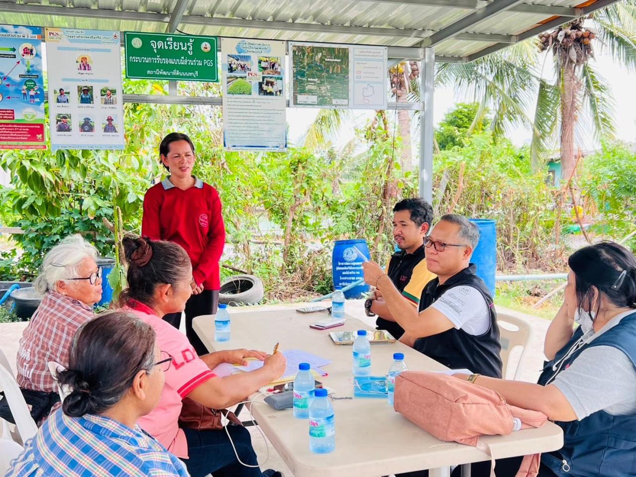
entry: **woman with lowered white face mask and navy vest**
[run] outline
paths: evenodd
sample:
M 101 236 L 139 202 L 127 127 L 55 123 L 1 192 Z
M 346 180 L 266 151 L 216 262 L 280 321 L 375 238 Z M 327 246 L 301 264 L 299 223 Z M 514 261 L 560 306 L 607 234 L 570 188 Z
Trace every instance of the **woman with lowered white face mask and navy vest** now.
M 541 455 L 539 477 L 636 475 L 636 258 L 614 242 L 568 260 L 565 299 L 548 328 L 550 361 L 539 384 L 459 378 L 494 389 L 509 404 L 541 411 L 563 429 L 563 447 Z M 579 327 L 574 330 L 575 322 Z M 514 476 L 520 459 L 497 461 Z M 473 475 L 489 475 L 481 471 Z

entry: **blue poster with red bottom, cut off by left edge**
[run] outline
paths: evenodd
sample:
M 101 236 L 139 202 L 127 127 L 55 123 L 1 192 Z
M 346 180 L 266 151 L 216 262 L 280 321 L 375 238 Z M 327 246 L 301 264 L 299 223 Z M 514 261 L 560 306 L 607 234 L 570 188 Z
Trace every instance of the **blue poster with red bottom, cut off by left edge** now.
M 46 149 L 42 29 L 0 25 L 0 149 Z

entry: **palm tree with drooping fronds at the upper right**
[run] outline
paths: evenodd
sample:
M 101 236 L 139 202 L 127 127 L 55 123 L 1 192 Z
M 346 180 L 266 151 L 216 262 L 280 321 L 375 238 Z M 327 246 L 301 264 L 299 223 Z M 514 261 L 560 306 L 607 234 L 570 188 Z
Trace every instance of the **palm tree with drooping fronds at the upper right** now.
M 611 138 L 616 129 L 611 89 L 589 62 L 593 45 L 597 43 L 615 60 L 636 69 L 636 0 L 612 4 L 586 20 L 589 21 L 585 25 L 583 19 L 577 19 L 468 64 L 440 64 L 436 83 L 473 93 L 480 102 L 480 111 L 494 111 L 495 136 L 502 135 L 509 125 L 530 126 L 532 162 L 536 167 L 556 145 L 560 125 L 563 177 L 569 177 L 574 168 L 577 127 L 579 137 L 593 129 L 597 139 Z M 598 31 L 586 26 L 591 22 Z M 542 57 L 541 52 L 552 55 L 554 81 L 543 78 L 548 53 Z M 525 111 L 533 102 L 535 114 L 530 118 Z M 580 121 L 583 113 L 590 117 L 591 127 Z

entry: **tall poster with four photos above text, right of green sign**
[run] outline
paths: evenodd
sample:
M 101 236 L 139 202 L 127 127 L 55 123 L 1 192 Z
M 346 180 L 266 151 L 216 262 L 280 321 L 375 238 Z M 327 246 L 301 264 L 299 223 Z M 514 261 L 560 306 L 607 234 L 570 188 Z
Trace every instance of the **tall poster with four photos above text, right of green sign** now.
M 221 39 L 223 145 L 285 151 L 285 42 Z

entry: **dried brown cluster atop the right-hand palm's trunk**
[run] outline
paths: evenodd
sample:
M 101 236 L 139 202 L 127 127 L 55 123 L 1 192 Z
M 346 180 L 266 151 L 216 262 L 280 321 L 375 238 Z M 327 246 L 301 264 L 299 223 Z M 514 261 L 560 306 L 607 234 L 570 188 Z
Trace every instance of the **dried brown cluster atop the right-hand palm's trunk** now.
M 539 50 L 552 50 L 558 56 L 561 64 L 573 63 L 580 65 L 588 58 L 594 57 L 591 41 L 596 38 L 596 32 L 583 27 L 583 22 L 563 25 L 555 31 L 539 35 Z

